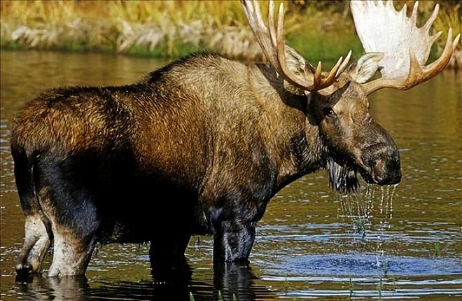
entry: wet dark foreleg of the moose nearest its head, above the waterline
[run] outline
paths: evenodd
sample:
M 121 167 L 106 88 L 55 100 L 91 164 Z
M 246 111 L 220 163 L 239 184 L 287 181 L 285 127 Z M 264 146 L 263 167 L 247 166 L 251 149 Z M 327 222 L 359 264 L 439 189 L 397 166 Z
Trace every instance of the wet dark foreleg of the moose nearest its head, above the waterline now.
M 248 263 L 255 239 L 255 223 L 221 221 L 214 225 L 214 261 Z

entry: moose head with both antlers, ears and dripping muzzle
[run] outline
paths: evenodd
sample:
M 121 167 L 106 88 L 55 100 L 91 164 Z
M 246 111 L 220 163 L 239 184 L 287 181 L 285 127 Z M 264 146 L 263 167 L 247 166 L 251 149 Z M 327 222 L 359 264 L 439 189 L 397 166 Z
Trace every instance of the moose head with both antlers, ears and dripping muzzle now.
M 269 65 L 288 85 L 307 96 L 307 114 L 318 127 L 330 184 L 354 190 L 357 172 L 367 183 L 391 185 L 401 179 L 398 148 L 369 114 L 368 95 L 384 87 L 408 90 L 440 73 L 456 48 L 449 29 L 442 55 L 426 65 L 430 48 L 441 32 L 430 35 L 437 17 L 435 7 L 423 27 L 416 27 L 417 7 L 395 10 L 392 1 L 351 1 L 351 12 L 365 55 L 349 64 L 351 51 L 327 73 L 316 68 L 285 44 L 283 3 L 274 25 L 274 2 L 269 1 L 268 25 L 257 1 L 242 1 L 249 25 Z M 381 77 L 370 80 L 379 71 Z

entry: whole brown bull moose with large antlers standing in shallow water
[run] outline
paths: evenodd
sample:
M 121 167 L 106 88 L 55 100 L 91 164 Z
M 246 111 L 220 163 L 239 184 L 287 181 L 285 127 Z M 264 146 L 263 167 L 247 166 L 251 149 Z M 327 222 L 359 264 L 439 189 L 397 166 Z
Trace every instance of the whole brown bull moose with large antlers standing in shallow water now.
M 132 85 L 61 87 L 19 113 L 11 153 L 25 241 L 15 269 L 85 274 L 95 244 L 151 242 L 156 265 L 184 260 L 191 235 L 213 235 L 214 262 L 248 263 L 255 224 L 288 183 L 327 169 L 335 190 L 400 182 L 398 148 L 367 96 L 440 73 L 460 35 L 426 65 L 430 35 L 391 1 L 351 1 L 365 55 L 323 72 L 284 41 L 283 3 L 265 22 L 242 1 L 267 61 L 194 54 Z M 381 76 L 371 78 L 379 71 Z

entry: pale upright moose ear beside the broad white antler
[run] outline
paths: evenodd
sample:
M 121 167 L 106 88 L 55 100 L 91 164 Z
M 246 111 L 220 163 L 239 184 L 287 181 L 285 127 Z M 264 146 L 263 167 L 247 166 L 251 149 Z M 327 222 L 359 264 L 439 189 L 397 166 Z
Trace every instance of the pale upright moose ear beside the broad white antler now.
M 349 66 L 348 73 L 356 83 L 365 83 L 379 69 L 379 62 L 384 58 L 382 52 L 369 52 Z

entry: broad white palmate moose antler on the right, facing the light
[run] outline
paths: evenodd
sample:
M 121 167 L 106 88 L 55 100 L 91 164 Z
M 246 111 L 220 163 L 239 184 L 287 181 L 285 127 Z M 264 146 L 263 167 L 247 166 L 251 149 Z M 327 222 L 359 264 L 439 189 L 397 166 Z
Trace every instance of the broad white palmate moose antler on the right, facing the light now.
M 458 34 L 453 41 L 452 29 L 449 28 L 441 56 L 425 65 L 431 46 L 442 33 L 428 34 L 437 17 L 439 5 L 435 6 L 430 19 L 420 28 L 416 27 L 418 6 L 419 2 L 416 1 L 408 18 L 407 6 L 397 11 L 393 1 L 350 2 L 356 31 L 365 52 L 384 53 L 384 59 L 379 63 L 381 78 L 363 84 L 367 94 L 383 87 L 408 90 L 436 76 L 451 59 L 461 35 Z

